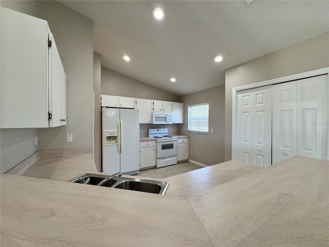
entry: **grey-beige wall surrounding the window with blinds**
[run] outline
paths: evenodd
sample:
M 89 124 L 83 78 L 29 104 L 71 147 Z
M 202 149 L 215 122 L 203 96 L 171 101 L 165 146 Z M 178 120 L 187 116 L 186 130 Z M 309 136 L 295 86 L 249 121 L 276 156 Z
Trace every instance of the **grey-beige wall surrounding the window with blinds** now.
M 187 105 L 209 102 L 209 131 L 213 129 L 213 133 L 190 133 L 190 159 L 208 166 L 224 162 L 225 86 L 185 95 L 181 100 L 185 119 L 181 133 L 187 135 Z

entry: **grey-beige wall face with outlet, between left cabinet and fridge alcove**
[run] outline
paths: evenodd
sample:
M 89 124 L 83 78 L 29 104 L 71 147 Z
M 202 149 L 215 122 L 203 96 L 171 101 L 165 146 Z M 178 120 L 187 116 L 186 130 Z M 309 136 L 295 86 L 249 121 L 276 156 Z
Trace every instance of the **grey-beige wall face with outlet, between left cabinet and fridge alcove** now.
M 37 14 L 48 21 L 64 66 L 67 116 L 66 126 L 39 129 L 39 149 L 92 147 L 93 21 L 56 1 L 38 1 Z

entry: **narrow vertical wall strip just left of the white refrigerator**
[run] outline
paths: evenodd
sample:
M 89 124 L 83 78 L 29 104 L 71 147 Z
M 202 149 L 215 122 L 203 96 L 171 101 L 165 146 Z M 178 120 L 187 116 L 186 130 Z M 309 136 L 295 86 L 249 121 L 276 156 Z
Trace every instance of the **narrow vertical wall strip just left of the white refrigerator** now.
M 101 171 L 101 55 L 94 52 L 94 162 Z

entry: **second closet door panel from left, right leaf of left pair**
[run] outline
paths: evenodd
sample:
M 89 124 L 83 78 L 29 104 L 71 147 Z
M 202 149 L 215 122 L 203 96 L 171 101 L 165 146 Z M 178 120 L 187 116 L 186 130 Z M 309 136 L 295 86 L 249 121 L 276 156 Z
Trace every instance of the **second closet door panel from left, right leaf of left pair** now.
M 272 164 L 272 88 L 260 87 L 254 92 L 252 114 L 253 165 L 266 167 Z

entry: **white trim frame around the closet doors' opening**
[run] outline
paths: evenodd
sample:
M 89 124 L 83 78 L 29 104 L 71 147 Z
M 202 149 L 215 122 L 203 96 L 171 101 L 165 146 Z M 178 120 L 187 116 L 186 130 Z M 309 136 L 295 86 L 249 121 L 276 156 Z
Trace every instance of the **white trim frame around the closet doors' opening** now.
M 262 81 L 262 82 L 257 82 L 257 83 L 252 83 L 248 85 L 243 85 L 243 86 L 237 86 L 232 89 L 232 160 L 236 159 L 236 102 L 237 102 L 237 92 L 242 91 L 242 90 L 247 90 L 247 89 L 254 89 L 255 87 L 261 87 L 261 86 L 267 86 L 267 85 L 273 85 L 273 84 L 278 84 L 282 82 L 288 82 L 288 81 L 295 81 L 307 77 L 313 77 L 313 76 L 320 76 L 320 75 L 325 75 L 329 74 L 329 67 L 325 68 L 320 68 L 320 69 L 315 69 L 315 70 L 310 70 L 308 72 L 303 72 L 295 75 L 290 75 L 290 76 L 284 76 L 284 77 L 279 77 L 276 79 L 271 79 L 267 81 Z M 329 86 L 328 92 L 327 92 L 327 104 L 329 104 Z M 327 119 L 329 119 L 329 110 L 327 110 Z M 329 137 L 327 137 L 327 146 L 328 146 L 328 140 Z M 329 149 L 329 147 L 328 147 Z M 326 158 L 329 156 L 329 150 L 326 150 Z

